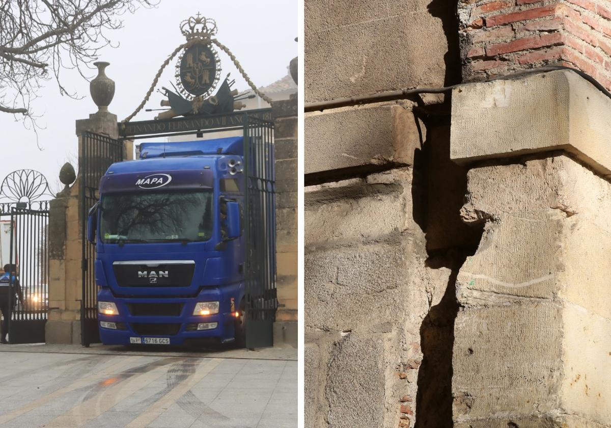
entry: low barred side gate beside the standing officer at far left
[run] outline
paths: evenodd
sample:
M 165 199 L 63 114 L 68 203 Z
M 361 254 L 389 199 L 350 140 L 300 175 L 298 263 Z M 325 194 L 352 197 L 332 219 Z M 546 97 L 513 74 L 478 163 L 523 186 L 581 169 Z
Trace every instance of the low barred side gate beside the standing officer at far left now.
M 45 324 L 49 309 L 49 242 L 48 202 L 12 207 L 10 213 L 10 271 L 11 286 L 20 287 L 23 300 L 12 301 L 9 321 L 9 342 L 12 344 L 45 342 Z M 25 207 L 23 207 L 23 205 Z M 5 317 L 5 321 L 6 321 Z

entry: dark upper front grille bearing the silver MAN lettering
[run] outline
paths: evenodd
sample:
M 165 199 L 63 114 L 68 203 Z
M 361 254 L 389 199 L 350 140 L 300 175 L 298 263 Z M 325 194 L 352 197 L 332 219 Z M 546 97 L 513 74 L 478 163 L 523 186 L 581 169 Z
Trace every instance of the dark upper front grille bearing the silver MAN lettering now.
M 195 262 L 192 260 L 150 260 L 147 262 L 114 262 L 120 287 L 189 287 Z

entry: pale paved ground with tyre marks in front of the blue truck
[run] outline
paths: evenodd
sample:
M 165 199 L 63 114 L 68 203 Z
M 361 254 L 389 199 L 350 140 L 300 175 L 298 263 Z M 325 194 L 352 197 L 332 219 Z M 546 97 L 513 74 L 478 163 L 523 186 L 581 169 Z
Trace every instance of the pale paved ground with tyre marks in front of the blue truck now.
M 0 426 L 295 428 L 296 350 L 0 345 Z

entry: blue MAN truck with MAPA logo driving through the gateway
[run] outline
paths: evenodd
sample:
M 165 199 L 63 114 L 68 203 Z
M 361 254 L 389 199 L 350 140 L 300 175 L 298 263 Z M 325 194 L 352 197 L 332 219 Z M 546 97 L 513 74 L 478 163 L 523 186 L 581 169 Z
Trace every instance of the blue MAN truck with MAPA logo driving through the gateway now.
M 266 156 L 273 164 L 273 153 Z M 247 247 L 255 229 L 266 229 L 257 218 L 268 226 L 275 218 L 273 199 L 263 206 L 266 215 L 246 218 L 244 137 L 144 142 L 139 158 L 108 168 L 89 211 L 101 342 L 246 345 L 247 312 L 275 293 L 260 284 L 274 282 L 275 273 L 251 275 L 248 286 L 246 259 L 261 251 L 274 257 L 275 230 L 265 246 Z M 250 208 L 262 209 L 252 202 Z M 251 274 L 255 264 L 256 257 Z

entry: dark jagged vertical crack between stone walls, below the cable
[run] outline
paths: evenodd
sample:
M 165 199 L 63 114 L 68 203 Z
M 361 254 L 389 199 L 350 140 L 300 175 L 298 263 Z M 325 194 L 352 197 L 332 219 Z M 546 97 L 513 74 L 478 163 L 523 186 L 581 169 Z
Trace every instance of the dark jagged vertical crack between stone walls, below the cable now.
M 450 120 L 425 119 L 427 139 L 414 163 L 414 219 L 426 234 L 426 267 L 447 268 L 447 284 L 420 325 L 422 365 L 417 380 L 415 428 L 450 428 L 452 421 L 452 352 L 459 311 L 456 277 L 475 253 L 483 223 L 463 223 L 460 210 L 467 193 L 467 170 L 450 160 Z M 435 276 L 432 276 L 433 278 Z

